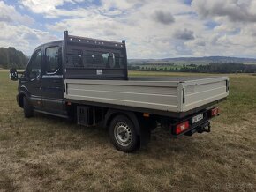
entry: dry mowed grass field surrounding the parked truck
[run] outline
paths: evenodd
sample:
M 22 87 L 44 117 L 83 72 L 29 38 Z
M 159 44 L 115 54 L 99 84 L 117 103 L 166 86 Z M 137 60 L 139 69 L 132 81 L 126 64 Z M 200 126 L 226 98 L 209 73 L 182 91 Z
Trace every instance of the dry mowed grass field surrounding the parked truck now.
M 0 191 L 256 190 L 256 76 L 230 76 L 210 134 L 174 139 L 155 129 L 134 154 L 117 151 L 102 128 L 42 114 L 25 119 L 17 84 L 0 71 Z

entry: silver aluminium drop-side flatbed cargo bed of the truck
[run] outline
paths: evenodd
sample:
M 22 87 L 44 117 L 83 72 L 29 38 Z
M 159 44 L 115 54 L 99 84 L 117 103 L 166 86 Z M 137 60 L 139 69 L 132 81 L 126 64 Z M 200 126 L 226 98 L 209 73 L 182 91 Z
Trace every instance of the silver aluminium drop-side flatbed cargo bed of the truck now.
M 64 79 L 66 100 L 185 113 L 225 99 L 227 77 L 129 78 L 129 80 Z

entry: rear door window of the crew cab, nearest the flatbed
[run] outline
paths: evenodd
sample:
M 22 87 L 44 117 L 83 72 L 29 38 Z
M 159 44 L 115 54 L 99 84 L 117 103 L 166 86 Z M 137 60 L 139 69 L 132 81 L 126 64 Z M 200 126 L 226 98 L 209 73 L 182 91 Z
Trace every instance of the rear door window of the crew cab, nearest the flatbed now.
M 59 47 L 46 48 L 45 56 L 46 56 L 46 74 L 53 74 L 59 70 Z

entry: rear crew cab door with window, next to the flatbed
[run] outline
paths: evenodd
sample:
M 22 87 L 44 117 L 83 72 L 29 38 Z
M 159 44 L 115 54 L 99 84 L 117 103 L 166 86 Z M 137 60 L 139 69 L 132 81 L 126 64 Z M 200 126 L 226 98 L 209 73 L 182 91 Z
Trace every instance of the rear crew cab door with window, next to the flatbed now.
M 49 113 L 64 114 L 61 44 L 46 46 L 43 61 L 41 96 L 44 110 Z

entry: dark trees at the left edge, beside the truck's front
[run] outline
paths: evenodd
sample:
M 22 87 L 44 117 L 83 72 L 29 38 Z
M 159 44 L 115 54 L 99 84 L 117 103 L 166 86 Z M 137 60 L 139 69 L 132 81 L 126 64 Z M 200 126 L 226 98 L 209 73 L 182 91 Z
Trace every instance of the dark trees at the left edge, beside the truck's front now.
M 24 69 L 28 57 L 16 48 L 0 48 L 0 68 L 4 69 Z

